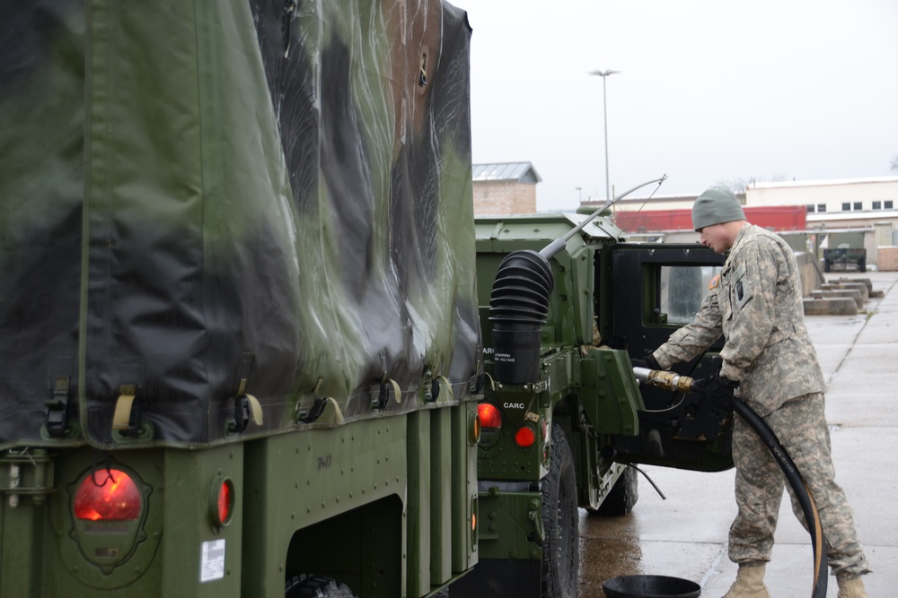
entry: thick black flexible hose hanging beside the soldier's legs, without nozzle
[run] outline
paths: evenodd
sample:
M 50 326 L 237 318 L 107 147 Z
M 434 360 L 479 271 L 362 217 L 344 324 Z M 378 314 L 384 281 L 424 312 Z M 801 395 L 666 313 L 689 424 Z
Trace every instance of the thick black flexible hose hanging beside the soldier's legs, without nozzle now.
M 773 455 L 774 461 L 779 464 L 779 468 L 786 476 L 788 485 L 792 487 L 801 511 L 805 515 L 808 533 L 811 534 L 811 547 L 814 550 L 814 590 L 811 594 L 812 598 L 824 598 L 826 596 L 826 540 L 823 538 L 823 527 L 820 524 L 820 516 L 817 513 L 817 507 L 814 505 L 814 498 L 811 496 L 805 481 L 801 478 L 801 473 L 792 457 L 788 455 L 786 449 L 779 443 L 779 438 L 754 410 L 745 404 L 742 400 L 733 397 L 733 411 L 738 413 L 742 419 L 758 434 L 763 443 L 770 449 L 770 455 Z

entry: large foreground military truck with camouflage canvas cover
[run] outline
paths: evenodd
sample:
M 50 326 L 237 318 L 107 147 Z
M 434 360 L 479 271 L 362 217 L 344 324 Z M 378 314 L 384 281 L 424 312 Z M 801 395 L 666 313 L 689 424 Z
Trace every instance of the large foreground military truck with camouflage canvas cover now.
M 478 555 L 465 13 L 0 22 L 0 595 L 445 594 Z

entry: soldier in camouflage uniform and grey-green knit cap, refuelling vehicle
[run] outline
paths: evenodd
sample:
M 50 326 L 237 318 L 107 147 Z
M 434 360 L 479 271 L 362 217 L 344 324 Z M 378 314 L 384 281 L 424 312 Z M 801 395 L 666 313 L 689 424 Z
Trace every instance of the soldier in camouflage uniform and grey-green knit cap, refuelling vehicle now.
M 732 250 L 695 320 L 633 365 L 670 368 L 707 351 L 723 334 L 722 366 L 709 378 L 710 395 L 735 394 L 777 435 L 810 490 L 826 536 L 829 565 L 839 598 L 866 598 L 860 576 L 870 572 L 858 542 L 851 508 L 835 482 L 830 436 L 823 415 L 823 371 L 804 321 L 795 256 L 774 233 L 745 221 L 739 200 L 709 189 L 692 207 L 702 245 Z M 739 508 L 729 533 L 729 558 L 739 565 L 724 598 L 770 598 L 764 570 L 773 549 L 783 475 L 748 424 L 735 417 L 735 499 Z M 805 524 L 792 497 L 792 510 Z

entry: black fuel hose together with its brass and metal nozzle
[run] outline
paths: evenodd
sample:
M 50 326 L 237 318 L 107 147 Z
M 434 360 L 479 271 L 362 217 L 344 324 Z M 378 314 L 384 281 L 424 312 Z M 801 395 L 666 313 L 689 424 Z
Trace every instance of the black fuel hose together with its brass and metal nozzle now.
M 678 390 L 686 393 L 703 394 L 699 388 L 694 386 L 695 380 L 691 377 L 680 376 L 674 372 L 661 371 L 647 368 L 633 368 L 633 373 L 639 384 L 649 384 L 669 390 Z M 798 505 L 801 507 L 802 514 L 805 516 L 807 531 L 811 535 L 811 548 L 814 550 L 814 587 L 811 592 L 811 598 L 824 598 L 826 596 L 826 540 L 823 538 L 823 527 L 820 524 L 820 515 L 817 513 L 817 507 L 814 504 L 814 498 L 811 492 L 807 490 L 805 481 L 801 478 L 801 473 L 792 457 L 786 452 L 786 448 L 782 446 L 773 430 L 767 425 L 754 410 L 744 403 L 741 399 L 733 397 L 733 411 L 738 413 L 745 423 L 747 423 L 754 432 L 761 438 L 762 442 L 767 445 L 773 460 L 779 465 L 786 477 L 788 485 L 795 493 Z

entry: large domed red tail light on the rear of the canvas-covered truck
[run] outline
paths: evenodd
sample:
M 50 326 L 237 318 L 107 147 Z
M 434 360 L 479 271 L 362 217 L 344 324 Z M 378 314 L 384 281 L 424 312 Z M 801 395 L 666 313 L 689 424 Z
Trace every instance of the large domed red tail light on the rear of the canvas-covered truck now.
M 134 521 L 140 516 L 141 505 L 140 490 L 128 473 L 118 469 L 92 472 L 75 492 L 75 517 L 78 519 Z

